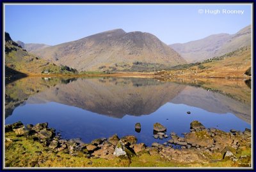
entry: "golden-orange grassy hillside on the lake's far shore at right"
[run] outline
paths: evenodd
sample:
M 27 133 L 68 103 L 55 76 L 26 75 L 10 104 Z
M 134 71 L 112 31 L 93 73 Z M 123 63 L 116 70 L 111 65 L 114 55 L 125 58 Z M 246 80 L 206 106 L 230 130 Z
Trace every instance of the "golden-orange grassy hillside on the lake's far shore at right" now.
M 251 67 L 252 52 L 250 47 L 242 47 L 219 57 L 203 62 L 175 66 L 171 71 L 159 71 L 157 77 L 220 77 L 249 78 L 244 73 Z

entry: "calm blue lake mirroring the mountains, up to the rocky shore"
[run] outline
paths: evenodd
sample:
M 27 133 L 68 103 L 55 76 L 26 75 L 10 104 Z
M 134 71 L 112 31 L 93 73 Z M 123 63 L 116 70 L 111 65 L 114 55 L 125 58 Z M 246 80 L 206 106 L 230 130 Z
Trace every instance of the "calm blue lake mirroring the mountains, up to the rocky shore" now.
M 86 143 L 113 134 L 134 135 L 148 146 L 164 143 L 170 138 L 152 137 L 156 122 L 179 136 L 193 120 L 223 131 L 251 128 L 251 89 L 243 79 L 27 77 L 6 80 L 5 87 L 5 124 L 48 122 L 62 138 Z

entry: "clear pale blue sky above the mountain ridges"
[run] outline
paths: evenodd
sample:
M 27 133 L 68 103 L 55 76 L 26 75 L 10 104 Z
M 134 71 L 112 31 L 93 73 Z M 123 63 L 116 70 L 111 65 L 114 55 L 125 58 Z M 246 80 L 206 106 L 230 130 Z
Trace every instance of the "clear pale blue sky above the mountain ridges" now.
M 215 14 L 207 13 L 209 10 L 216 10 Z M 243 14 L 228 13 L 239 10 L 244 10 Z M 234 34 L 251 24 L 251 12 L 250 4 L 5 4 L 4 31 L 14 41 L 57 45 L 99 32 L 124 29 L 150 32 L 170 45 L 211 34 Z

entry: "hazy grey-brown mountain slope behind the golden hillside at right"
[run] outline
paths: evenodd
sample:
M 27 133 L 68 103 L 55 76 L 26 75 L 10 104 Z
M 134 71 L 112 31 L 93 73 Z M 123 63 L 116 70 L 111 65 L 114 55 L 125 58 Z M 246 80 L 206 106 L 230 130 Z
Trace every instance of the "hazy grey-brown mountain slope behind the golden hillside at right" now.
M 199 62 L 251 45 L 251 25 L 236 34 L 213 34 L 188 43 L 169 45 L 188 62 Z

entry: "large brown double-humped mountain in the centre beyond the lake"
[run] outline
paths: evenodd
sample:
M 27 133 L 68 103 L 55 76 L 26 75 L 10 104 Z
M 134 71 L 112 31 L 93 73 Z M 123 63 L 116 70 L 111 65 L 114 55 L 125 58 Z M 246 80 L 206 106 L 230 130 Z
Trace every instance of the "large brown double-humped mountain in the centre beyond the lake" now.
M 156 66 L 186 63 L 156 36 L 122 29 L 100 32 L 77 41 L 36 50 L 33 54 L 78 71 L 138 71 L 138 67 L 154 69 Z

